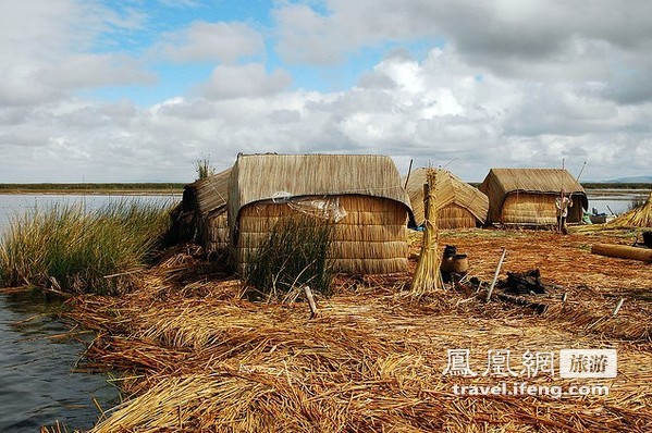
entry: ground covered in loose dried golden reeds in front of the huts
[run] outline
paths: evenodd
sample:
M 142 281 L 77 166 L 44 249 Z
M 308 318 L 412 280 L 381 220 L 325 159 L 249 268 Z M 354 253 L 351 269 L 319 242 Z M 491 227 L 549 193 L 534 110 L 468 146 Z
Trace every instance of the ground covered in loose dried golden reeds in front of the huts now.
M 137 293 L 75 299 L 72 316 L 99 332 L 87 367 L 123 370 L 130 396 L 93 431 L 652 431 L 652 310 L 628 298 L 610 318 L 617 298 L 602 296 L 649 292 L 650 265 L 590 255 L 605 240 L 629 242 L 618 233 L 442 232 L 442 248 L 468 253 L 484 281 L 505 246 L 502 275 L 538 268 L 567 288 L 567 302 L 545 300 L 543 316 L 464 290 L 415 302 L 403 295 L 409 275 L 398 275 L 342 279 L 308 320 L 304 304 L 250 304 L 237 281 L 202 277 L 190 255 L 173 256 Z M 526 350 L 601 347 L 618 350 L 618 376 L 590 382 L 610 385 L 607 397 L 460 397 L 455 383 L 527 379 L 442 374 L 446 349 L 470 349 L 471 368 L 482 372 L 490 349 L 510 349 L 519 371 Z

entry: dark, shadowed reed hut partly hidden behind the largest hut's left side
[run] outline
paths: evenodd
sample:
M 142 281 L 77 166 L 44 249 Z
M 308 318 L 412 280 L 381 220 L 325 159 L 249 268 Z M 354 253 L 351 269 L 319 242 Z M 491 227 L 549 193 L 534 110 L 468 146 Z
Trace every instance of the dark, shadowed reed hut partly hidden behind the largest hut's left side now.
M 231 169 L 186 185 L 177 221 L 182 240 L 192 240 L 208 252 L 229 249 L 229 177 Z

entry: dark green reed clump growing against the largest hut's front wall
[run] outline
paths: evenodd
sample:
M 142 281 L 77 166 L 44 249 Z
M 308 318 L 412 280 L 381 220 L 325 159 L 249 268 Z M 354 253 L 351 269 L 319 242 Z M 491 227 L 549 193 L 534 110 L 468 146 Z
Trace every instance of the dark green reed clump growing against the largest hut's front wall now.
M 281 220 L 247 260 L 245 281 L 268 298 L 286 296 L 304 285 L 331 294 L 328 253 L 333 226 L 315 218 Z

